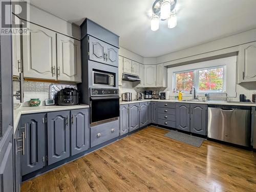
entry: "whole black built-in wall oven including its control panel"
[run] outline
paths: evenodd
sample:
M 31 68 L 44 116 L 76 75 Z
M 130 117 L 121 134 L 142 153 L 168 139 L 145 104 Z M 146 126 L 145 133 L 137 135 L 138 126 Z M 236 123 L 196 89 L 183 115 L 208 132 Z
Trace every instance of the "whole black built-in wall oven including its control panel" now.
M 118 89 L 90 88 L 90 123 L 96 126 L 119 117 Z

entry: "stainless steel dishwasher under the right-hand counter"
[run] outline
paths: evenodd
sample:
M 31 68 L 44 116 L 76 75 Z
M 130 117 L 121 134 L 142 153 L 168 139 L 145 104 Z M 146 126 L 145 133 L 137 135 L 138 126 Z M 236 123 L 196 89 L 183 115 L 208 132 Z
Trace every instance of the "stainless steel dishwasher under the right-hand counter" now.
M 208 105 L 208 137 L 250 146 L 250 112 L 247 106 Z

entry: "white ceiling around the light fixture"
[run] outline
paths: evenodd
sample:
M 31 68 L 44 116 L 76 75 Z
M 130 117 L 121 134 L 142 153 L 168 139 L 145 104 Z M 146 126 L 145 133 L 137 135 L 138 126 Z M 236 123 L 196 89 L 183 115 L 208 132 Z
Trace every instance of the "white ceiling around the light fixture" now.
M 80 25 L 86 17 L 120 36 L 119 45 L 157 57 L 256 28 L 256 0 L 177 0 L 178 25 L 151 31 L 155 0 L 30 0 Z

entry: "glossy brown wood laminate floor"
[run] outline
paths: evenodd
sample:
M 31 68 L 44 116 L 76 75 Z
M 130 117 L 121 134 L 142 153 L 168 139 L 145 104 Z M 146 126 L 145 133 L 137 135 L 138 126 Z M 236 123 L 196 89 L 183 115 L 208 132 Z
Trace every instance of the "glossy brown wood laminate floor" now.
M 148 127 L 23 183 L 22 191 L 256 191 L 256 154 Z

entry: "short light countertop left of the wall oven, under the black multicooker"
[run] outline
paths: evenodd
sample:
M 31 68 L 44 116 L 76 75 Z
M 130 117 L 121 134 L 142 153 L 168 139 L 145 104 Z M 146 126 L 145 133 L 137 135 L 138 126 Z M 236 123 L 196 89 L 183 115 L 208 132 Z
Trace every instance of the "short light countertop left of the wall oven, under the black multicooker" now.
M 89 108 L 89 105 L 72 105 L 72 106 L 38 106 L 38 107 L 19 107 L 18 109 L 13 110 L 13 129 L 14 133 L 16 132 L 20 116 L 22 114 L 30 113 L 41 113 L 41 112 L 50 112 L 50 111 L 63 111 L 63 110 L 73 110 L 73 109 L 84 109 Z

